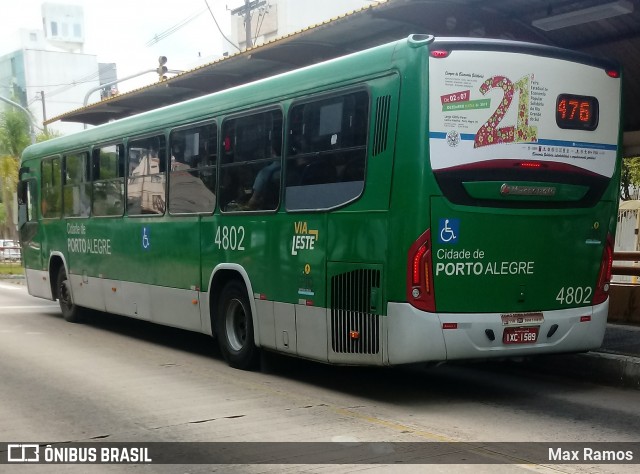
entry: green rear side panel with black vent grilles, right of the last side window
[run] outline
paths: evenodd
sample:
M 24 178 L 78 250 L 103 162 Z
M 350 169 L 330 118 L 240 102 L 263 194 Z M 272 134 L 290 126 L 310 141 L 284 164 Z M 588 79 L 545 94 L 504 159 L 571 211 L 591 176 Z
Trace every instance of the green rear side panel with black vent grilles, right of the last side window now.
M 334 363 L 383 364 L 387 358 L 388 210 L 400 77 L 393 74 L 368 85 L 371 105 L 364 191 L 352 204 L 327 215 L 323 284 L 329 361 Z

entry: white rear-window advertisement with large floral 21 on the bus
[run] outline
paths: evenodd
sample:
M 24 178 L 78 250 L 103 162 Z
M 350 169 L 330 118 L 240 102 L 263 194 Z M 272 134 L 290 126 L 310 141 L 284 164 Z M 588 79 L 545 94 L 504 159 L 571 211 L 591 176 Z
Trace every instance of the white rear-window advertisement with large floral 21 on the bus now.
M 613 175 L 620 81 L 603 69 L 530 54 L 462 50 L 430 58 L 429 68 L 434 170 L 524 159 Z M 558 116 L 582 122 L 582 129 L 561 128 Z

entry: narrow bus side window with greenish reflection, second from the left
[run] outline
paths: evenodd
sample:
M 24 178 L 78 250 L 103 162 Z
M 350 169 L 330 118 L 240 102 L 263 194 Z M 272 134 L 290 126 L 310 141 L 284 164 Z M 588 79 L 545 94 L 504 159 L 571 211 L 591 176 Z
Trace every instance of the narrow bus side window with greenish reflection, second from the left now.
M 88 217 L 91 210 L 88 153 L 64 156 L 62 209 L 65 217 Z

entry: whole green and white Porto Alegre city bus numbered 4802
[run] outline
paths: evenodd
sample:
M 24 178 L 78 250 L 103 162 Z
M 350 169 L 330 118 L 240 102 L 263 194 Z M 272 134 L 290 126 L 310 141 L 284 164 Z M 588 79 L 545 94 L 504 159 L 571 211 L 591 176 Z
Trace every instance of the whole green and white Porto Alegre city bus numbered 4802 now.
M 241 369 L 597 348 L 620 76 L 412 35 L 30 146 L 29 293 L 212 335 Z

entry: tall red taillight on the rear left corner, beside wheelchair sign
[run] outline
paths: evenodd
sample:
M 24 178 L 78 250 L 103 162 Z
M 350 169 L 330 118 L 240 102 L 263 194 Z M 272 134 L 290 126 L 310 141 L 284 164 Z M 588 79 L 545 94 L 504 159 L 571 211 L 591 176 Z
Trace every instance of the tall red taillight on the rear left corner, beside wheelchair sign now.
M 407 301 L 423 311 L 435 312 L 436 299 L 431 265 L 431 230 L 428 229 L 409 249 Z

